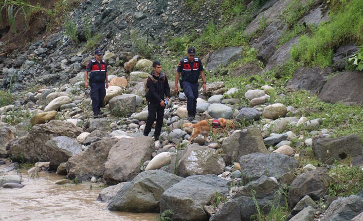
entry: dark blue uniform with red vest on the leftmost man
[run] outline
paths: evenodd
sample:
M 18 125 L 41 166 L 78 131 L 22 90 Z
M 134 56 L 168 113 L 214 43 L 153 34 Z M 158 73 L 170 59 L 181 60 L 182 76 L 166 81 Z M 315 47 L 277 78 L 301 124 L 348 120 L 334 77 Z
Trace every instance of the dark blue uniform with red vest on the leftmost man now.
M 86 67 L 89 73 L 89 86 L 91 88 L 92 110 L 93 114 L 97 115 L 103 105 L 104 97 L 106 96 L 105 80 L 107 66 L 106 62 L 101 59 L 101 63 L 91 59 Z

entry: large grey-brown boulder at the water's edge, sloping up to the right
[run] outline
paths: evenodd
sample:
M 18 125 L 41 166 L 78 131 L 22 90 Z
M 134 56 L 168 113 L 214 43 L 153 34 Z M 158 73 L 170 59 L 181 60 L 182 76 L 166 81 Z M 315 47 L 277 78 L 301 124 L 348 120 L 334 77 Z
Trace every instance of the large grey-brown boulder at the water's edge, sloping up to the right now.
M 107 208 L 124 212 L 159 212 L 162 193 L 181 180 L 182 177 L 162 170 L 141 172 L 117 192 Z

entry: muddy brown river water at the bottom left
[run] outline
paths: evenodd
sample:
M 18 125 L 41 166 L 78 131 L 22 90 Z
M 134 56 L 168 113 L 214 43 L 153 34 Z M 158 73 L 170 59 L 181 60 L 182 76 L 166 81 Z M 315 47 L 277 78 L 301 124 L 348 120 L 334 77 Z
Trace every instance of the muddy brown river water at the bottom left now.
M 158 216 L 108 211 L 106 203 L 96 200 L 103 188 L 99 183 L 56 185 L 57 180 L 65 177 L 40 172 L 33 179 L 28 178 L 26 171 L 21 174 L 23 188 L 0 189 L 0 220 L 154 221 Z

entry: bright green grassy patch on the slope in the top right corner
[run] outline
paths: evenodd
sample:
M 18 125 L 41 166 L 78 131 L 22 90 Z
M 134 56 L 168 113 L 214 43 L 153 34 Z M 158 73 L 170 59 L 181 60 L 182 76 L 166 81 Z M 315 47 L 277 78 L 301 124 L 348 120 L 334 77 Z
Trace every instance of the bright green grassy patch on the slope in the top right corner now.
M 345 2 L 345 1 L 344 1 Z M 332 65 L 334 50 L 347 43 L 363 43 L 363 2 L 347 1 L 330 22 L 321 24 L 312 35 L 302 35 L 292 50 L 292 57 L 304 65 L 326 67 Z

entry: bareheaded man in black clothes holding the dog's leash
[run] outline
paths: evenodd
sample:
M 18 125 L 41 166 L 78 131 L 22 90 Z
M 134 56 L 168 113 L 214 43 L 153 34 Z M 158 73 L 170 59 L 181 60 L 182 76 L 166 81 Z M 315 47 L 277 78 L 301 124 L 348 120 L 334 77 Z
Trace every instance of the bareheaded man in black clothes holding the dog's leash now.
M 148 136 L 151 127 L 156 118 L 156 126 L 154 131 L 155 140 L 159 139 L 161 127 L 164 119 L 165 100 L 169 101 L 170 87 L 168 79 L 165 74 L 161 71 L 161 64 L 158 61 L 153 62 L 153 71 L 149 74 L 147 79 L 146 87 L 146 101 L 148 101 L 148 119 L 146 122 L 145 129 L 143 131 L 144 136 Z

